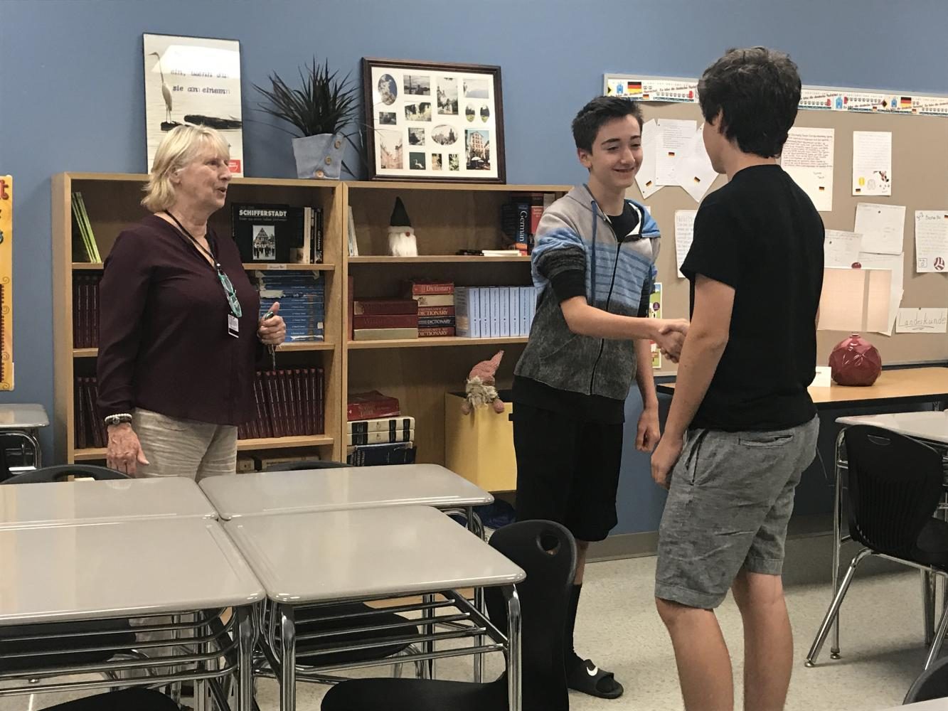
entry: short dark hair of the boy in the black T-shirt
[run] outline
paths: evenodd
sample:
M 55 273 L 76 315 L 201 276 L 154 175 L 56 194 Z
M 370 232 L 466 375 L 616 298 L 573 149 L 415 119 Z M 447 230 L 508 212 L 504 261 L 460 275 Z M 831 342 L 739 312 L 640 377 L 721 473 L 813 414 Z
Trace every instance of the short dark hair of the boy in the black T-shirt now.
M 705 121 L 720 115 L 724 136 L 744 153 L 780 155 L 800 103 L 800 75 L 783 52 L 756 46 L 728 49 L 698 82 Z

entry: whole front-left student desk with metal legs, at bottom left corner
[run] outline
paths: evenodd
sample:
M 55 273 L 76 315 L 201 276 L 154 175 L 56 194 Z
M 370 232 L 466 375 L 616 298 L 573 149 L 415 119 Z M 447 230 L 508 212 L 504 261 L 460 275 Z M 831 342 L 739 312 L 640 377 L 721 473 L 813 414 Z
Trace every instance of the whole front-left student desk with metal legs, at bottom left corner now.
M 183 551 L 187 555 L 182 556 Z M 123 678 L 120 683 L 149 686 L 182 679 L 218 679 L 237 671 L 238 705 L 240 711 L 250 711 L 250 655 L 255 637 L 250 608 L 264 599 L 264 590 L 217 521 L 140 519 L 0 529 L 0 559 L 0 629 L 35 623 L 151 617 L 152 627 L 135 629 L 168 630 L 179 628 L 158 622 L 155 615 L 197 611 L 198 616 L 193 627 L 195 639 L 136 645 L 145 649 L 168 648 L 171 653 L 160 657 L 161 665 L 155 664 L 158 658 L 116 659 L 95 665 L 5 671 L 0 672 L 0 681 L 16 685 L 0 689 L 0 696 L 117 685 L 105 678 L 50 681 L 52 677 L 80 670 L 85 674 L 150 670 L 151 675 Z M 231 621 L 210 629 L 220 612 L 230 607 L 235 610 Z M 33 632 L 32 636 L 35 635 Z M 51 632 L 49 641 L 55 640 L 56 635 Z M 190 648 L 175 648 L 183 645 Z M 45 653 L 53 650 L 54 647 L 46 647 Z M 222 657 L 228 660 L 226 664 L 217 661 Z

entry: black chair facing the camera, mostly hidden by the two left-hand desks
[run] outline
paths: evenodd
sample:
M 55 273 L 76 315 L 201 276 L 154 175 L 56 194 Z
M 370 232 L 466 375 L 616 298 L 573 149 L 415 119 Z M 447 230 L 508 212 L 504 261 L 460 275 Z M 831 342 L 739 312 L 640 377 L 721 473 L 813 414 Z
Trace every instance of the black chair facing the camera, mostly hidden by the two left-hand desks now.
M 106 469 L 104 466 L 59 465 L 27 471 L 0 484 L 59 482 L 71 474 L 93 479 L 127 479 L 124 474 L 114 469 Z M 101 632 L 101 634 L 89 634 L 89 632 Z M 43 635 L 45 638 L 13 639 L 34 635 Z M 95 622 L 54 622 L 0 627 L 0 671 L 100 664 L 118 654 L 131 653 L 131 647 L 135 641 L 135 632 L 132 631 L 128 620 L 123 618 Z M 118 648 L 109 650 L 90 647 Z M 49 653 L 35 654 L 46 651 Z M 27 655 L 27 653 L 32 654 Z

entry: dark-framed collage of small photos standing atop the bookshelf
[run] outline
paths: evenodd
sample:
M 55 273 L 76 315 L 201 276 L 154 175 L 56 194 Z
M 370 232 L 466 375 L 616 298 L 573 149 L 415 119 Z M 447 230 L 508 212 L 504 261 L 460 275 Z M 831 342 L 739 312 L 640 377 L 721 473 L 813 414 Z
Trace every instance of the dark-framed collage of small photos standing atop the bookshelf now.
M 372 180 L 505 183 L 501 67 L 362 59 Z

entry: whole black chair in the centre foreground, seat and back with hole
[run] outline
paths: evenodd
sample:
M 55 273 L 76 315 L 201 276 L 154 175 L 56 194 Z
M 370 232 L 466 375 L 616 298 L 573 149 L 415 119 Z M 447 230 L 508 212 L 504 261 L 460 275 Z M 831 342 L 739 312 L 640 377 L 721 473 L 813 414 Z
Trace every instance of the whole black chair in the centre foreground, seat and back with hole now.
M 498 530 L 490 545 L 522 568 L 517 586 L 522 611 L 523 711 L 569 708 L 563 629 L 576 567 L 573 536 L 558 523 L 529 520 Z M 487 608 L 505 630 L 501 592 L 485 591 Z M 337 684 L 322 700 L 322 711 L 505 711 L 504 675 L 489 684 L 423 679 L 359 679 Z

